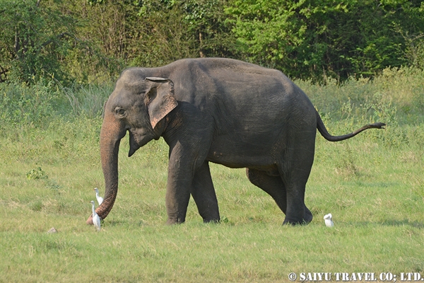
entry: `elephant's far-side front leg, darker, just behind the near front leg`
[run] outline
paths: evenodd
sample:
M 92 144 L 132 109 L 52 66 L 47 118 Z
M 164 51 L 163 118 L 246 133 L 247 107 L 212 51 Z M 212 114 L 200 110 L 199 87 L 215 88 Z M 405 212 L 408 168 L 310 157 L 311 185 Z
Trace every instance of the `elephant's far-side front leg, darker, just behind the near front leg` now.
M 220 221 L 218 200 L 207 161 L 204 161 L 194 174 L 192 196 L 205 223 Z

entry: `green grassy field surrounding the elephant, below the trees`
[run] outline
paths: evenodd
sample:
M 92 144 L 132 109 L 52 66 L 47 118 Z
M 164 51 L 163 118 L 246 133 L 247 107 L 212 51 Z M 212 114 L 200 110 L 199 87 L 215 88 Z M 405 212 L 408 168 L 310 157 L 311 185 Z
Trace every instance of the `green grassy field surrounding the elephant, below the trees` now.
M 284 215 L 244 169 L 214 164 L 222 223 L 203 224 L 191 201 L 185 224 L 165 226 L 167 146 L 160 139 L 128 158 L 125 137 L 117 201 L 100 233 L 85 221 L 93 187 L 104 192 L 99 113 L 112 86 L 4 86 L 0 282 L 287 282 L 290 272 L 424 277 L 423 77 L 401 69 L 342 86 L 298 81 L 332 134 L 371 120 L 388 124 L 339 143 L 317 136 L 307 226 L 281 226 Z M 333 229 L 324 225 L 327 213 Z M 57 233 L 47 233 L 52 227 Z

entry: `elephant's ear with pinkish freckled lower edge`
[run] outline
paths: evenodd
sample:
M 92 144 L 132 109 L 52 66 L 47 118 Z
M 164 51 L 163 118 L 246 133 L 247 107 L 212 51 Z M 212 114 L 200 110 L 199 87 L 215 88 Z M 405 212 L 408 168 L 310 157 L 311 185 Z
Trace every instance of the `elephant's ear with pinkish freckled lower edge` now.
M 153 129 L 169 112 L 177 107 L 174 96 L 174 83 L 170 79 L 148 77 L 152 86 L 146 97 L 148 115 Z

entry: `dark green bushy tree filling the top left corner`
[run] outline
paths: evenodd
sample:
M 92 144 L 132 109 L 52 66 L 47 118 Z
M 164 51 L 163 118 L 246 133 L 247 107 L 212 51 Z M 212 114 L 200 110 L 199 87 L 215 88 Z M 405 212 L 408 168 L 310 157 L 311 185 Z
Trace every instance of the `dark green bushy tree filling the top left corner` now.
M 40 0 L 3 0 L 0 15 L 1 81 L 66 78 L 60 60 L 73 39 L 71 18 Z

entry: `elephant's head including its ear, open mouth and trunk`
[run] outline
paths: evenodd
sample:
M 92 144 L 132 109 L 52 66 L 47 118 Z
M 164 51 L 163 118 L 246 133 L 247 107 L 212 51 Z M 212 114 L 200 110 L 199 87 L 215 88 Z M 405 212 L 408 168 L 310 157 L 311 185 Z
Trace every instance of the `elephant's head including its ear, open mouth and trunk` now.
M 152 139 L 159 139 L 166 127 L 164 117 L 177 107 L 170 79 L 147 77 L 129 69 L 122 73 L 105 104 L 100 132 L 100 156 L 105 177 L 105 197 L 96 209 L 105 219 L 118 190 L 119 143 L 129 132 L 129 156 Z M 87 224 L 93 224 L 91 216 Z

